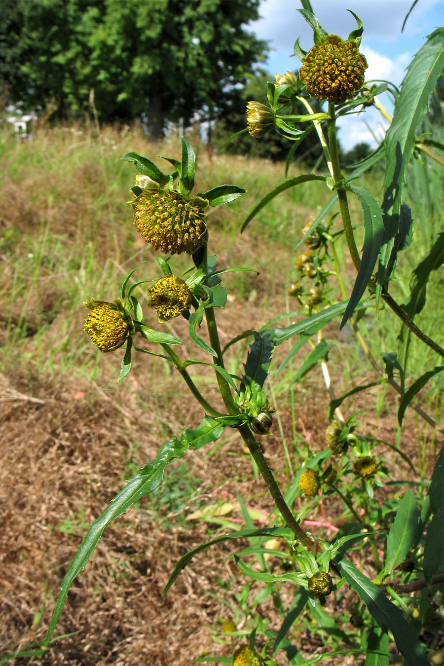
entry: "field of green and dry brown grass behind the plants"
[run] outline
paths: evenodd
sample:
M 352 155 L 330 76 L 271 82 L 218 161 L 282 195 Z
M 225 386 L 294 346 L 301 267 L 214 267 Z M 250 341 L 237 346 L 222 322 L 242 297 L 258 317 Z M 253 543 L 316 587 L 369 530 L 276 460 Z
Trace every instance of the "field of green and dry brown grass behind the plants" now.
M 208 218 L 210 252 L 216 254 L 218 267 L 247 266 L 259 273 L 231 273 L 224 280 L 229 300 L 218 322 L 225 344 L 242 330 L 258 330 L 278 314 L 298 309 L 287 295 L 298 254 L 294 248 L 302 228 L 317 216 L 331 192 L 313 182 L 286 190 L 240 236 L 252 206 L 285 180 L 284 165 L 244 157 L 214 155 L 210 159 L 204 146 L 195 149 L 197 191 L 222 182 L 248 190 L 229 206 L 212 210 Z M 114 300 L 124 275 L 143 260 L 140 275 L 160 277 L 154 251 L 132 224 L 127 201 L 134 168 L 120 161 L 129 151 L 158 163 L 157 155 L 178 159 L 180 142 L 155 145 L 136 131 L 112 128 L 100 135 L 73 128 L 41 130 L 26 143 L 0 135 L 0 436 L 4 448 L 0 494 L 5 524 L 0 547 L 6 590 L 0 608 L 0 643 L 5 653 L 35 649 L 32 655 L 11 656 L 11 663 L 167 666 L 188 663 L 187 659 L 205 653 L 230 654 L 231 644 L 220 633 L 220 621 L 240 621 L 242 603 L 238 598 L 233 608 L 231 595 L 241 595 L 242 582 L 232 559 L 227 559 L 232 552 L 228 546 L 214 547 L 203 555 L 166 599 L 161 590 L 185 549 L 228 524 L 220 517 L 210 522 L 189 519 L 198 509 L 218 501 L 236 503 L 236 490 L 240 490 L 250 505 L 265 515 L 270 511 L 248 454 L 235 431 L 226 431 L 227 436 L 205 455 L 190 454 L 172 466 L 150 500 L 131 509 L 103 537 L 75 583 L 61 619 L 61 634 L 78 633 L 60 638 L 45 653 L 29 645 L 45 635 L 61 578 L 88 523 L 122 481 L 155 456 L 162 442 L 202 418 L 198 405 L 182 392 L 180 378 L 171 374 L 162 359 L 136 356 L 134 371 L 116 384 L 122 354 L 101 354 L 83 333 L 84 300 Z M 408 203 L 419 224 L 413 243 L 400 259 L 393 287 L 399 302 L 408 297 L 411 270 L 442 227 L 438 171 L 428 162 L 409 168 L 415 170 L 409 178 L 415 186 L 407 189 Z M 289 173 L 289 177 L 296 175 L 296 171 Z M 373 172 L 364 186 L 377 196 L 380 180 Z M 360 209 L 354 201 L 351 214 L 359 223 Z M 423 219 L 427 224 L 421 223 Z M 342 252 L 339 248 L 339 258 Z M 179 256 L 171 264 L 182 274 L 190 268 L 190 259 Z M 353 266 L 347 260 L 343 265 L 350 290 Z M 339 300 L 333 280 L 331 286 Z M 427 304 L 417 318 L 417 324 L 439 342 L 442 293 L 442 273 L 435 271 L 427 288 Z M 143 289 L 138 298 L 141 302 L 146 298 Z M 290 314 L 282 318 L 283 324 L 293 320 Z M 154 313 L 148 315 L 148 325 L 158 326 Z M 378 362 L 382 352 L 395 350 L 400 327 L 387 308 L 377 324 L 364 316 L 360 325 Z M 184 336 L 186 322 L 173 320 L 165 330 Z M 375 379 L 351 329 L 339 332 L 339 322 L 334 322 L 326 337 L 334 342 L 329 368 L 337 395 Z M 231 349 L 228 370 L 242 373 L 244 346 Z M 185 342 L 185 350 L 196 353 L 190 342 Z M 277 359 L 286 352 L 288 347 L 276 352 Z M 295 357 L 290 372 L 296 372 L 303 358 L 303 353 Z M 424 351 L 413 338 L 406 383 L 434 364 L 433 352 Z M 216 395 L 210 372 L 199 370 L 194 378 L 210 396 Z M 273 373 L 269 386 L 278 412 L 266 452 L 285 482 L 310 446 L 322 448 L 330 398 L 318 368 L 292 390 L 286 388 L 288 380 Z M 372 388 L 368 403 L 365 396 L 357 394 L 347 401 L 347 410 L 368 410 L 357 416 L 365 432 L 407 452 L 419 477 L 427 478 L 437 449 L 436 430 L 412 410 L 401 430 L 397 398 L 387 384 Z M 442 398 L 439 383 L 431 382 L 418 402 L 439 421 Z M 393 452 L 385 456 L 392 469 L 401 464 Z M 334 507 L 331 517 L 340 523 Z M 242 513 L 234 509 L 232 525 L 240 523 Z M 256 583 L 253 587 L 252 597 L 258 593 Z M 290 604 L 291 590 L 283 598 Z M 345 617 L 346 608 L 343 613 Z M 266 625 L 276 629 L 270 599 L 264 599 L 260 614 Z M 298 632 L 303 651 L 326 649 L 328 641 L 322 633 L 310 633 L 308 622 Z M 8 659 L 2 661 L 0 654 L 0 663 Z M 340 663 L 363 661 L 341 659 Z

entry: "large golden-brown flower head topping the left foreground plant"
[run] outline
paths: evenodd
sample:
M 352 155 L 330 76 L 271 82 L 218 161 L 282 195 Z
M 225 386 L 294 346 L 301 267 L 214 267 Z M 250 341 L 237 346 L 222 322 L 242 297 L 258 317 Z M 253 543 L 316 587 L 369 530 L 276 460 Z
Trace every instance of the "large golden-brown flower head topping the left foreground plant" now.
M 152 181 L 130 204 L 140 236 L 155 250 L 165 254 L 194 254 L 204 244 L 206 199 L 187 197 L 176 190 L 160 188 Z

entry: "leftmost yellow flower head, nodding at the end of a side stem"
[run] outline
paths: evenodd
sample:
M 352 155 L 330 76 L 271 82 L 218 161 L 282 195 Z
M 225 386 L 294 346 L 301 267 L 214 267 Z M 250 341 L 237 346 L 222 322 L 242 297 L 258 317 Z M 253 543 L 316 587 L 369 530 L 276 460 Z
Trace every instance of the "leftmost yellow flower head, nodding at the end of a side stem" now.
M 114 303 L 93 298 L 84 305 L 91 310 L 83 330 L 101 352 L 112 352 L 121 347 L 128 335 L 134 333 L 132 319 L 120 298 Z

